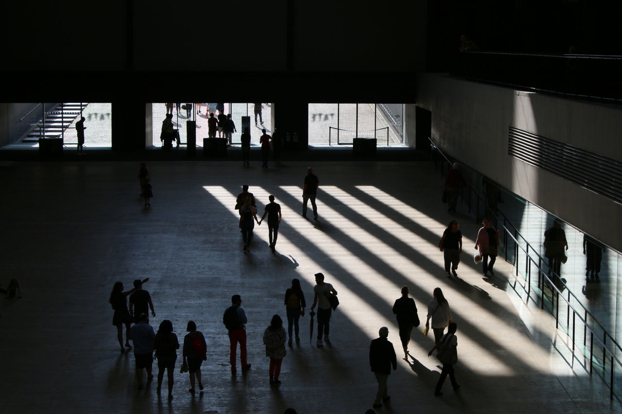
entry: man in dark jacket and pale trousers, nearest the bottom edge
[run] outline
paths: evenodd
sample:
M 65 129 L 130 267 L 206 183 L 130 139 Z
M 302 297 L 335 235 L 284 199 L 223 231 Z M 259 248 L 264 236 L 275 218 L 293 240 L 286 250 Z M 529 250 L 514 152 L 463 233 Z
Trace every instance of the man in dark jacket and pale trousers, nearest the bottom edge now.
M 387 380 L 391 374 L 391 366 L 393 366 L 393 370 L 397 369 L 395 349 L 387 339 L 389 328 L 383 326 L 379 329 L 378 335 L 379 338 L 371 341 L 369 346 L 369 365 L 371 371 L 376 375 L 376 380 L 378 380 L 378 393 L 376 393 L 374 408 L 382 407 L 381 401 L 387 402 L 391 398 L 387 394 Z

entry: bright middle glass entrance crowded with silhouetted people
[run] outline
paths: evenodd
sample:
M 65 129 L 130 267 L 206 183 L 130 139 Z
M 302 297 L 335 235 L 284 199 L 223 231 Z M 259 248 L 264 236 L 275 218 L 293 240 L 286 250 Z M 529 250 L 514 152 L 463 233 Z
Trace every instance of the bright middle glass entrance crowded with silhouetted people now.
M 241 144 L 240 136 L 243 132 L 243 117 L 246 116 L 249 117 L 251 145 L 259 145 L 261 129 L 266 129 L 267 134 L 272 134 L 271 103 L 261 103 L 258 106 L 254 103 L 173 103 L 169 104 L 169 108 L 172 108 L 173 127 L 179 129 L 180 140 L 186 142 L 187 121 L 197 121 L 197 146 L 202 146 L 203 138 L 208 137 L 208 118 L 210 117 L 210 113 L 218 117 L 217 108 L 220 106 L 224 108 L 223 114 L 231 114 L 231 120 L 235 126 L 235 131 L 231 135 L 233 145 Z M 160 132 L 162 129 L 162 121 L 164 121 L 166 117 L 167 104 L 154 103 L 152 105 L 152 111 L 153 143 L 157 146 L 160 144 Z M 257 125 L 254 123 L 255 117 L 257 118 Z M 261 124 L 261 121 L 263 121 L 263 124 Z M 224 137 L 223 134 L 221 135 Z M 216 137 L 218 137 L 218 132 L 216 132 Z

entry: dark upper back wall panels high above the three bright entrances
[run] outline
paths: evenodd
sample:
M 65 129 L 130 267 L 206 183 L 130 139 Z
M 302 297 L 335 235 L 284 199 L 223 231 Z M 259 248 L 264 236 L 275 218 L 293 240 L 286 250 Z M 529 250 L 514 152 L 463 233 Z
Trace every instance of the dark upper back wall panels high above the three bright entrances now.
M 3 70 L 284 71 L 288 50 L 295 71 L 425 67 L 425 0 L 132 3 L 9 2 Z

